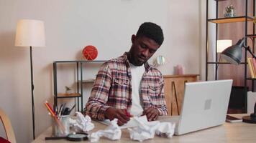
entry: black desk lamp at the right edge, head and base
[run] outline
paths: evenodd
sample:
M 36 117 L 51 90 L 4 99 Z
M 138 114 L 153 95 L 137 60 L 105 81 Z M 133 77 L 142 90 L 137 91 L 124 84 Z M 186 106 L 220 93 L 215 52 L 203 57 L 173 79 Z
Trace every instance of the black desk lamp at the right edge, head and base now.
M 227 61 L 229 61 L 230 63 L 238 65 L 242 61 L 242 47 L 244 47 L 244 49 L 249 51 L 250 54 L 252 54 L 253 58 L 256 59 L 255 54 L 253 54 L 252 51 L 250 50 L 250 46 L 245 45 L 244 43 L 245 39 L 246 37 L 244 37 L 243 39 L 239 39 L 239 41 L 237 41 L 237 44 L 229 46 L 227 49 L 222 51 L 221 52 L 222 57 Z M 256 103 L 255 103 L 254 113 L 250 114 L 250 116 L 242 117 L 242 121 L 256 124 Z

